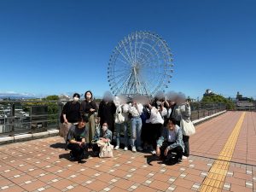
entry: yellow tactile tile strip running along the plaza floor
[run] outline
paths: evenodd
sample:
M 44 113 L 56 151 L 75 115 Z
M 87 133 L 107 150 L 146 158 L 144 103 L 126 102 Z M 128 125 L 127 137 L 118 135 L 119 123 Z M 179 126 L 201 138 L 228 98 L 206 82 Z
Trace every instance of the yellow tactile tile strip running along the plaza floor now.
M 232 131 L 228 141 L 225 143 L 224 148 L 218 154 L 218 160 L 215 160 L 209 174 L 202 183 L 201 192 L 222 191 L 245 114 L 245 112 L 241 113 L 241 117 L 237 121 L 235 129 Z

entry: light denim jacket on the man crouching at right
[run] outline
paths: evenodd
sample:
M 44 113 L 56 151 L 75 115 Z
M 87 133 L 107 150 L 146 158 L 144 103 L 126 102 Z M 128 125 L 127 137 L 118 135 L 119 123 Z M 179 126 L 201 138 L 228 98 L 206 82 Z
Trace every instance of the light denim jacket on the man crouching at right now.
M 180 146 L 183 148 L 183 151 L 184 151 L 183 132 L 178 125 L 176 125 L 175 127 L 175 133 L 176 133 L 175 134 L 176 141 L 175 143 L 172 143 L 170 146 L 168 146 L 168 148 L 171 149 L 171 148 L 176 148 L 177 146 Z M 162 131 L 161 137 L 157 141 L 157 146 L 161 147 L 163 142 L 168 142 L 168 136 L 169 136 L 169 130 L 168 128 L 165 127 L 164 130 Z

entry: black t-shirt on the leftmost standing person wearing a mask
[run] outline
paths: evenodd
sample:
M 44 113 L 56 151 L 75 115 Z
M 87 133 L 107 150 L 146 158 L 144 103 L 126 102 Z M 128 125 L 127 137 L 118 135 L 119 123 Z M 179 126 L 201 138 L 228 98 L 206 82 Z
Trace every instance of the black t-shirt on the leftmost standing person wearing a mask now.
M 69 123 L 76 123 L 80 116 L 80 102 L 67 102 L 63 107 L 63 114 L 66 114 Z

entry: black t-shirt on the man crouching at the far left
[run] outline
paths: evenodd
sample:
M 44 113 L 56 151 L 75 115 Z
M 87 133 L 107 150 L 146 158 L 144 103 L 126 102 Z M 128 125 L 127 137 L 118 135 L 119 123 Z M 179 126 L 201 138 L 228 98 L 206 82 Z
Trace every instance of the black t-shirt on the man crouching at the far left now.
M 82 139 L 86 137 L 85 126 L 82 129 L 79 129 L 78 125 L 72 125 L 67 133 L 67 142 L 70 140 L 75 140 L 76 142 L 81 142 Z

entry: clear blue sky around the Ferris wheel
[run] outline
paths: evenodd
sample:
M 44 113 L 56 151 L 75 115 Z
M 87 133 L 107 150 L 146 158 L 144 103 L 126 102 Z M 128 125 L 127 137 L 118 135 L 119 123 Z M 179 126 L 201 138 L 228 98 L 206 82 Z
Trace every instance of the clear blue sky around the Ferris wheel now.
M 151 31 L 172 49 L 168 90 L 256 98 L 255 10 L 254 0 L 1 0 L 0 93 L 102 96 L 119 40 Z

